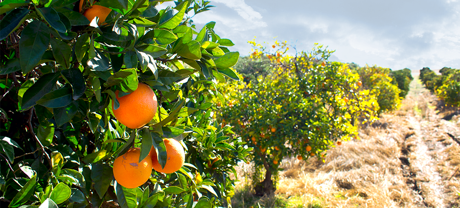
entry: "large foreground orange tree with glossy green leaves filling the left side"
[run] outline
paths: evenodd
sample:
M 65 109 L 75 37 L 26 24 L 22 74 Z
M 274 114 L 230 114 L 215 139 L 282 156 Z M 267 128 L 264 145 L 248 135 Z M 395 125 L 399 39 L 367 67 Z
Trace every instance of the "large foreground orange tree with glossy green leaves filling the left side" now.
M 0 2 L 2 205 L 230 205 L 230 173 L 251 149 L 229 137 L 230 127 L 217 124 L 210 100 L 218 95 L 216 83 L 238 79 L 230 67 L 239 54 L 228 49 L 230 40 L 214 32 L 214 22 L 199 30 L 192 24 L 189 14 L 208 10 L 209 1 L 177 0 L 174 7 L 159 10 L 161 2 Z M 100 17 L 84 16 L 94 5 L 109 9 L 98 13 Z M 149 109 L 158 109 L 145 126 L 130 129 L 113 111 L 126 103 L 118 98 L 138 88 L 158 100 Z M 130 99 L 127 103 L 138 101 Z M 139 112 L 128 119 L 149 114 Z M 129 160 L 151 160 L 153 149 L 164 167 L 164 138 L 180 141 L 184 166 L 168 174 L 152 171 L 135 188 L 114 180 L 115 159 L 132 147 L 140 152 L 134 151 L 138 160 Z M 122 177 L 127 184 L 129 177 Z

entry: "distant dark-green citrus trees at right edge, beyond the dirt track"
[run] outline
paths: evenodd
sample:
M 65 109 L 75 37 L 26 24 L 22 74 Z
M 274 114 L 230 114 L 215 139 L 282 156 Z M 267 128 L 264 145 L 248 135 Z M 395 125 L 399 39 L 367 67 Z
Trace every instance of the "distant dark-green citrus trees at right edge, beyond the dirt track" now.
M 460 70 L 444 67 L 439 70 L 439 73 L 441 74 L 425 67 L 420 70 L 420 80 L 446 105 L 460 106 Z

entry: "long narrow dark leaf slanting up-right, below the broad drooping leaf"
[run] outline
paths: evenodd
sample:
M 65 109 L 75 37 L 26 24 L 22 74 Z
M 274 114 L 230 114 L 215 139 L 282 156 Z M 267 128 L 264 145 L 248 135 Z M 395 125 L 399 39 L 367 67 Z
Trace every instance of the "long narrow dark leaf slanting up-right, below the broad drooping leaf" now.
M 30 25 L 30 24 L 29 24 Z M 40 77 L 27 91 L 24 92 L 21 108 L 28 109 L 36 104 L 56 84 L 60 73 L 47 73 Z

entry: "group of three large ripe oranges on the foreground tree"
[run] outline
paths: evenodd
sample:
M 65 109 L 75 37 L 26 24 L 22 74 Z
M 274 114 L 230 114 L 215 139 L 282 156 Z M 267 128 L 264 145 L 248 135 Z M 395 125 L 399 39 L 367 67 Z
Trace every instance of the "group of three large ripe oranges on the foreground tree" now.
M 157 96 L 150 86 L 139 83 L 138 88 L 127 95 L 119 97 L 115 92 L 119 107 L 112 110 L 115 118 L 128 128 L 137 129 L 150 122 L 157 113 Z M 157 151 L 152 146 L 149 155 L 139 162 L 140 148 L 131 148 L 115 159 L 114 176 L 118 184 L 126 188 L 135 188 L 144 184 L 152 173 L 152 168 L 161 173 L 178 171 L 185 161 L 184 148 L 175 139 L 163 139 L 167 160 L 164 168 L 158 162 Z

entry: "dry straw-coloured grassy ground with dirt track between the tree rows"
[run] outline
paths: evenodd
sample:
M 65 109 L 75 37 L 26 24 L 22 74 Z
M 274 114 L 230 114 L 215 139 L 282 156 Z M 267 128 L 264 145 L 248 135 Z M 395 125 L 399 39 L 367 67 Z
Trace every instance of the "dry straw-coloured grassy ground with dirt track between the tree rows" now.
M 251 167 L 238 168 L 233 207 L 460 208 L 460 116 L 421 85 L 360 139 L 332 148 L 326 162 L 285 159 L 276 193 L 253 196 Z

